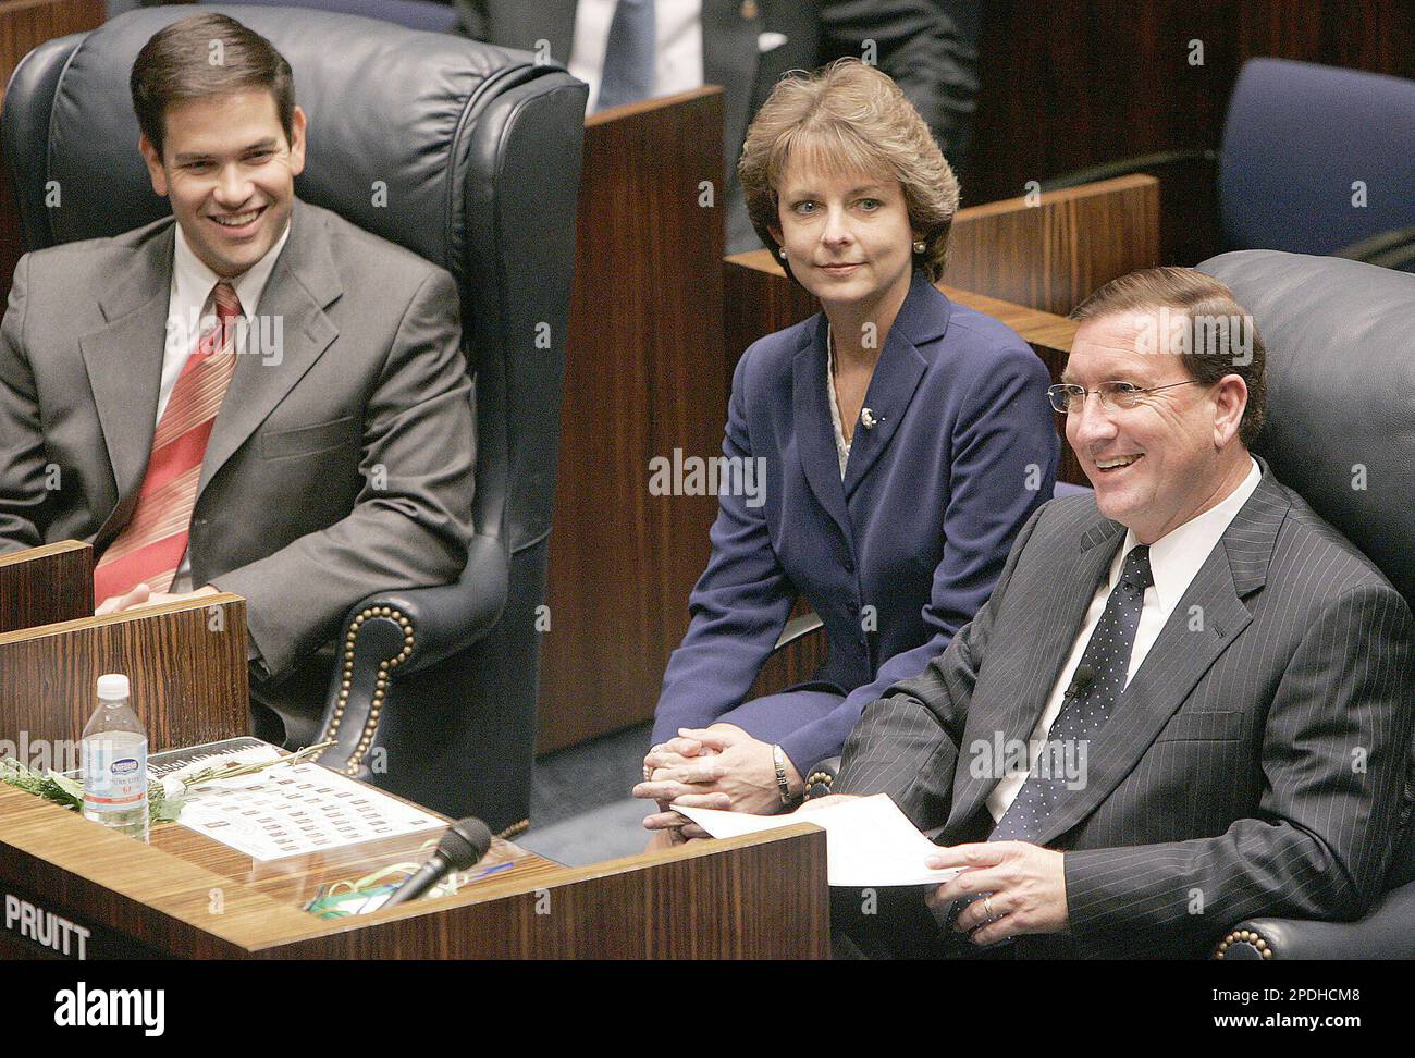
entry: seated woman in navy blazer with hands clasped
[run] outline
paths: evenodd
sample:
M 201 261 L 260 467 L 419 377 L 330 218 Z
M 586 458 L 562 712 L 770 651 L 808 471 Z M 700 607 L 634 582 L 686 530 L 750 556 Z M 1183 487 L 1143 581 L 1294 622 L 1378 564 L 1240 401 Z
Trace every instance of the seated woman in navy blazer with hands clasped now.
M 659 801 L 658 840 L 683 836 L 674 801 L 767 813 L 798 798 L 865 704 L 986 601 L 1060 448 L 1041 361 L 934 287 L 958 182 L 893 81 L 843 59 L 780 82 L 739 171 L 758 233 L 824 313 L 737 364 L 723 454 L 764 489 L 720 496 L 664 675 L 634 789 Z M 798 595 L 828 661 L 744 703 Z

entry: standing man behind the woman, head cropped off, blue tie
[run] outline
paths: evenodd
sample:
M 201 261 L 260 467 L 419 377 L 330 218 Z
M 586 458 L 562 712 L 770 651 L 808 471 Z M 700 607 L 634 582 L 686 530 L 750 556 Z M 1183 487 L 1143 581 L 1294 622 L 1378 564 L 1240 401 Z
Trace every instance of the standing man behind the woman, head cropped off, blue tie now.
M 962 173 L 978 93 L 978 0 L 456 0 L 458 31 L 548 58 L 590 107 L 723 88 L 727 252 L 760 246 L 737 184 L 747 123 L 791 69 L 845 55 L 879 65 Z M 693 191 L 696 194 L 696 191 Z

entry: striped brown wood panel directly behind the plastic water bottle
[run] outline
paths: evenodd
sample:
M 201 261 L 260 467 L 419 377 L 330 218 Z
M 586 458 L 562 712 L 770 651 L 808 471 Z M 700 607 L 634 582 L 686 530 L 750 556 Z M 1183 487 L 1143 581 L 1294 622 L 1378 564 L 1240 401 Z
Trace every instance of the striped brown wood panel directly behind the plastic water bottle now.
M 246 734 L 246 603 L 218 594 L 0 635 L 0 738 L 78 740 L 126 673 L 153 751 Z

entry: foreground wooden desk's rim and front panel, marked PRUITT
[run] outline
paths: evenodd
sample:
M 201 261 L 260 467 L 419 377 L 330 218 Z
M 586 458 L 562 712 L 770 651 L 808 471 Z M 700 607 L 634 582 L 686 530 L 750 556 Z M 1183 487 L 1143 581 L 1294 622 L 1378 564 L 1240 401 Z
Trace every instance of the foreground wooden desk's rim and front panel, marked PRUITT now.
M 324 867 L 291 864 L 294 878 L 266 867 L 262 880 L 245 857 L 212 844 L 161 825 L 144 846 L 0 786 L 0 885 L 93 931 L 106 942 L 98 953 L 122 953 L 126 941 L 184 958 L 829 955 L 825 833 L 808 823 L 583 868 L 498 842 L 487 863 L 514 863 L 501 874 L 450 897 L 335 921 L 300 909 L 316 874 L 330 874 Z M 354 878 L 393 856 L 333 874 Z M 10 952 L 21 951 L 11 939 Z

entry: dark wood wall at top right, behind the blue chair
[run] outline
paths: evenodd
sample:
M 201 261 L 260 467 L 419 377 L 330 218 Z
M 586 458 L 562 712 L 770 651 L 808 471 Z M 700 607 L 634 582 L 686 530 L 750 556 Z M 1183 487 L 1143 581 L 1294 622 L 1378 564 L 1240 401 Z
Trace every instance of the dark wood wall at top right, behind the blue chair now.
M 1102 161 L 1217 147 L 1240 66 L 1258 55 L 1415 76 L 1409 0 L 1087 0 L 982 6 L 968 202 Z M 1191 65 L 1191 41 L 1203 65 Z M 1167 264 L 1217 252 L 1213 171 L 1165 174 Z M 990 291 L 989 291 L 990 293 Z

